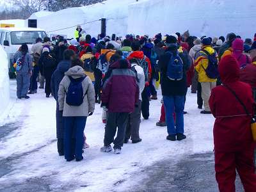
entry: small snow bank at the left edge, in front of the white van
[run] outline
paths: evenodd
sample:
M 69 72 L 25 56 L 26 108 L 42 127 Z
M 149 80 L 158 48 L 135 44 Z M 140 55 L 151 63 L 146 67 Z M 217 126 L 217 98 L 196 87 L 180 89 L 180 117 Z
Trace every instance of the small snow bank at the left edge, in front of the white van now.
M 0 46 L 0 123 L 6 116 L 6 109 L 10 102 L 10 79 L 8 76 L 8 58 Z

